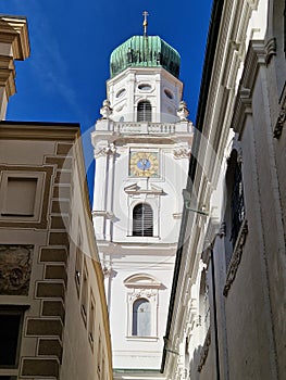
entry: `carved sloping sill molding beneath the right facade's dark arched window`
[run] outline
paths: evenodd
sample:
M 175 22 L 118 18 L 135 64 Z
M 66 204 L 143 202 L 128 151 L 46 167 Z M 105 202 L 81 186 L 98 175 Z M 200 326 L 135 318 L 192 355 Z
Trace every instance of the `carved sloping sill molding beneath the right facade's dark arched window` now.
M 247 233 L 248 233 L 248 224 L 247 224 L 247 220 L 245 219 L 240 227 L 240 231 L 239 231 L 239 235 L 235 244 L 235 249 L 232 255 L 232 259 L 228 266 L 226 281 L 223 290 L 223 295 L 225 296 L 227 296 L 228 291 L 232 287 L 232 283 L 235 280 L 236 273 L 241 261 Z

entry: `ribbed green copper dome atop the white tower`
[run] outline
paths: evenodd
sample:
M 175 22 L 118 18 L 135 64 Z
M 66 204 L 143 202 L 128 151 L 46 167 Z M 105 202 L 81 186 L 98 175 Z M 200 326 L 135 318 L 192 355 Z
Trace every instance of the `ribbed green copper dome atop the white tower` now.
M 119 46 L 110 56 L 111 78 L 127 67 L 164 67 L 178 77 L 178 52 L 158 36 L 134 36 Z

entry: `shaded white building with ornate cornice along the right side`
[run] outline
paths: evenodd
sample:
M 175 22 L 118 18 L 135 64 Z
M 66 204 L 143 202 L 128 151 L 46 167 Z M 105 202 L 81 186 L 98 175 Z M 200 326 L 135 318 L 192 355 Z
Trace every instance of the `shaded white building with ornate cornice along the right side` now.
M 285 378 L 285 1 L 214 1 L 166 379 Z

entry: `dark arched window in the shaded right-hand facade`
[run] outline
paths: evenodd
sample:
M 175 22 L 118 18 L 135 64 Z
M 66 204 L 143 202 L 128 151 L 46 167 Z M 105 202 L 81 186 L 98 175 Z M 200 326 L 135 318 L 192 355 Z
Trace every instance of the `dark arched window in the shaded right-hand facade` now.
M 231 241 L 233 248 L 235 246 L 236 239 L 245 218 L 245 201 L 244 201 L 244 186 L 240 164 L 236 162 L 234 170 L 234 182 L 232 191 L 232 236 Z

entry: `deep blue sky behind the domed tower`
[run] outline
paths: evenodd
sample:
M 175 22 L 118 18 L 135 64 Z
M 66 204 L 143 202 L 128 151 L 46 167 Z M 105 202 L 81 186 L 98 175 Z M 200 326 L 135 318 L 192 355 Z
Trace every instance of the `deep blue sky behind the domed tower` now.
M 159 35 L 181 54 L 184 100 L 195 122 L 212 0 L 0 0 L 3 14 L 25 15 L 32 54 L 16 64 L 17 93 L 7 119 L 77 122 L 92 187 L 90 130 L 100 117 L 114 48 L 142 34 Z

